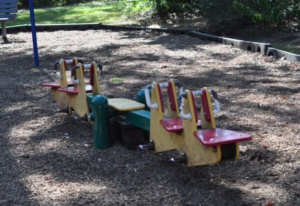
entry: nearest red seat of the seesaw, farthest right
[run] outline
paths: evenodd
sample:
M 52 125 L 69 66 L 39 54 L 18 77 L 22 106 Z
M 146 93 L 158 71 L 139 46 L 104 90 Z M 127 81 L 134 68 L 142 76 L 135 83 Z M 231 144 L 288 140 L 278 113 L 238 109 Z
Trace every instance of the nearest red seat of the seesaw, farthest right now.
M 252 136 L 250 134 L 220 128 L 198 129 L 197 131 L 193 132 L 193 134 L 205 146 L 216 146 L 220 144 L 252 139 Z

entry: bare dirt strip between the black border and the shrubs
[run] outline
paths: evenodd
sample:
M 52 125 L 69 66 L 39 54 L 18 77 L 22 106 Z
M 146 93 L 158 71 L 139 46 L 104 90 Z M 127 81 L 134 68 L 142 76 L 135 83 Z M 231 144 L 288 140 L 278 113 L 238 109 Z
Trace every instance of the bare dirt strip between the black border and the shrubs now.
M 159 28 L 191 28 L 198 32 L 217 36 L 270 43 L 274 48 L 300 54 L 299 24 L 293 21 L 286 22 L 284 28 L 251 22 L 244 22 L 232 28 L 231 25 L 215 26 L 204 17 L 192 13 L 168 13 L 162 17 L 153 15 L 153 13 L 139 13 L 112 23 Z

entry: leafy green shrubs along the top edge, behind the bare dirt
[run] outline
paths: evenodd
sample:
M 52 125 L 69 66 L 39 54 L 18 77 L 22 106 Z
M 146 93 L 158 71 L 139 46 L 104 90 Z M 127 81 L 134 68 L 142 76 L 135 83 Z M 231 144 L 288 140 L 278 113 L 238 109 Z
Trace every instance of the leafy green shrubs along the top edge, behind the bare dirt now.
M 162 16 L 172 12 L 197 12 L 220 29 L 242 27 L 249 22 L 280 26 L 300 18 L 300 0 L 118 0 L 126 14 L 151 10 Z

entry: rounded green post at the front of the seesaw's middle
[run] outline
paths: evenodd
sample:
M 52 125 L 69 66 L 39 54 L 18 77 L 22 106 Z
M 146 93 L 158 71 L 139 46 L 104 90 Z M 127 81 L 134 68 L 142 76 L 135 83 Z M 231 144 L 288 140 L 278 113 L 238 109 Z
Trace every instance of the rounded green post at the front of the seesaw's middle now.
M 111 145 L 108 100 L 103 95 L 96 95 L 90 104 L 89 118 L 92 123 L 94 147 L 105 149 Z

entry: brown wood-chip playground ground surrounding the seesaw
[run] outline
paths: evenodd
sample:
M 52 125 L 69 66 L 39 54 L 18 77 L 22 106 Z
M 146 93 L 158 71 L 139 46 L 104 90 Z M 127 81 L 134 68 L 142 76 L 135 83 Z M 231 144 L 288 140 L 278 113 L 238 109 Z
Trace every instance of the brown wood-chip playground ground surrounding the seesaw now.
M 37 32 L 34 67 L 31 33 L 7 38 L 0 43 L 0 205 L 300 205 L 299 62 L 186 35 L 86 30 Z M 135 99 L 169 78 L 214 89 L 216 126 L 253 139 L 240 143 L 237 160 L 197 167 L 170 163 L 176 151 L 120 143 L 96 150 L 92 125 L 55 113 L 41 86 L 55 80 L 54 61 L 74 56 L 102 63 L 107 97 Z

